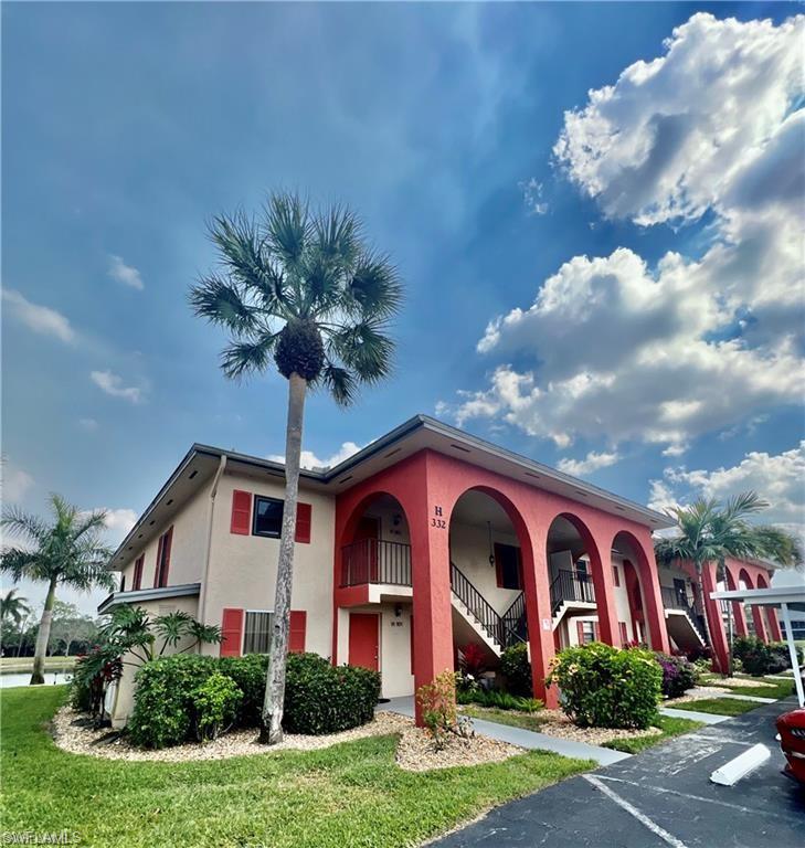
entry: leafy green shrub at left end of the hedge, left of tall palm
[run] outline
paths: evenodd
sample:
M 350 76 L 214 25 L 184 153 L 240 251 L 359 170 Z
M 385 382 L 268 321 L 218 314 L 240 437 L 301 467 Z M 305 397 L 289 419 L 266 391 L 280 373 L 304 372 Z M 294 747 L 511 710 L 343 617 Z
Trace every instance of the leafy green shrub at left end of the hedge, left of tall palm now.
M 127 729 L 140 748 L 178 745 L 193 733 L 195 690 L 215 671 L 214 657 L 177 654 L 146 662 L 135 675 Z

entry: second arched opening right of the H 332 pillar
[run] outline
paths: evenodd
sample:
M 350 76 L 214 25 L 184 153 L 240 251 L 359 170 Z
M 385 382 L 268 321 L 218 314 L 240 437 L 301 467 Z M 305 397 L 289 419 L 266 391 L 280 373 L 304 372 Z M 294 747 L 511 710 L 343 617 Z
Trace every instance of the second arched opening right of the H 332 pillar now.
M 601 554 L 580 518 L 564 512 L 553 519 L 547 556 L 557 647 L 608 640 L 601 625 L 604 600 L 597 597 L 603 575 Z

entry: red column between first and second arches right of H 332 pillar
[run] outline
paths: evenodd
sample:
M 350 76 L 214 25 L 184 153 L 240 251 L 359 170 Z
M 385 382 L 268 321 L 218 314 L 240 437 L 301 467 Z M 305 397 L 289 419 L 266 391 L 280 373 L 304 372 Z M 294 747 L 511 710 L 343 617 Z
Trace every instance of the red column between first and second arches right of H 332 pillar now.
M 521 548 L 522 580 L 526 592 L 526 619 L 531 655 L 531 688 L 533 697 L 544 701 L 550 710 L 559 707 L 557 687 L 546 686 L 551 662 L 555 656 L 553 639 L 553 616 L 548 582 L 548 532 L 547 529 L 530 527 L 530 545 Z

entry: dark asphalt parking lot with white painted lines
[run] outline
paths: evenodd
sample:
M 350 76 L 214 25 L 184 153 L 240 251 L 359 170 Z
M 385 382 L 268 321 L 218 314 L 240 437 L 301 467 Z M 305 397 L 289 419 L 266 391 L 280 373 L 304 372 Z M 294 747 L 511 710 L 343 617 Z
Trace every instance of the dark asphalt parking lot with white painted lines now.
M 494 809 L 439 848 L 805 848 L 805 789 L 783 776 L 774 719 L 793 698 Z M 712 771 L 759 742 L 772 756 L 735 786 Z

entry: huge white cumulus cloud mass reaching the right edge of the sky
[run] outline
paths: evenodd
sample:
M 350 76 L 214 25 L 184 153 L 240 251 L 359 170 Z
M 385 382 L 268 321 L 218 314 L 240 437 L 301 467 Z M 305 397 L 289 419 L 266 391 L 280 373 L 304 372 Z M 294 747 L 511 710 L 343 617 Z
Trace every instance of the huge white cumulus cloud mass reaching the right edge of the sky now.
M 487 326 L 477 349 L 498 364 L 449 407 L 459 423 L 679 456 L 803 395 L 804 21 L 697 14 L 664 56 L 565 115 L 555 153 L 605 214 L 656 224 L 709 209 L 711 241 L 654 267 L 627 248 L 566 262 Z

